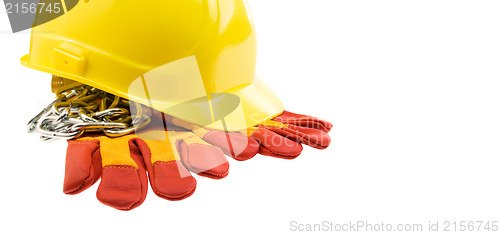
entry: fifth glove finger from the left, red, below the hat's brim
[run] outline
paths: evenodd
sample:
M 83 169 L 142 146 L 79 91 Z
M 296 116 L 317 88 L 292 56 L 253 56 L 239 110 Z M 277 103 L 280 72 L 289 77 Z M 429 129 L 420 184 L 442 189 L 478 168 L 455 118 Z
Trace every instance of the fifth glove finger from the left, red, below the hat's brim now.
M 210 130 L 203 135 L 203 140 L 238 161 L 249 160 L 259 152 L 259 143 L 240 133 Z

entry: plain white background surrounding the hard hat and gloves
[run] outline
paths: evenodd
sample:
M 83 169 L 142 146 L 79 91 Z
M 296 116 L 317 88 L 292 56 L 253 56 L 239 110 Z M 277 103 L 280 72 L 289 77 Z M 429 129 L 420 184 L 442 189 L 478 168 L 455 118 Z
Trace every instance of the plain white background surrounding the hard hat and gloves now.
M 50 75 L 21 66 L 29 30 L 9 33 L 2 6 L 0 234 L 283 234 L 291 221 L 500 220 L 500 2 L 249 4 L 259 78 L 286 109 L 332 121 L 331 146 L 306 147 L 292 161 L 230 159 L 227 178 L 197 177 L 187 200 L 149 190 L 130 212 L 100 204 L 97 185 L 62 193 L 66 143 L 25 130 L 52 99 Z

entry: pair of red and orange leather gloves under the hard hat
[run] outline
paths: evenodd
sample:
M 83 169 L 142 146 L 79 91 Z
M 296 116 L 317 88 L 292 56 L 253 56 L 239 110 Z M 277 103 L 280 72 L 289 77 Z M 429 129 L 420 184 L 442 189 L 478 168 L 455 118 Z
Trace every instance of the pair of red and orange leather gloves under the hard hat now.
M 213 179 L 227 176 L 224 153 L 240 161 L 257 152 L 293 159 L 301 153 L 301 144 L 328 147 L 327 132 L 332 128 L 327 121 L 287 111 L 249 128 L 248 136 L 205 129 L 167 115 L 162 118 L 153 118 L 152 123 L 165 122 L 168 132 L 163 125 L 153 125 L 157 128 L 117 138 L 99 135 L 68 141 L 64 192 L 80 193 L 101 178 L 99 201 L 131 210 L 145 200 L 149 175 L 156 195 L 182 200 L 196 188 L 190 172 Z

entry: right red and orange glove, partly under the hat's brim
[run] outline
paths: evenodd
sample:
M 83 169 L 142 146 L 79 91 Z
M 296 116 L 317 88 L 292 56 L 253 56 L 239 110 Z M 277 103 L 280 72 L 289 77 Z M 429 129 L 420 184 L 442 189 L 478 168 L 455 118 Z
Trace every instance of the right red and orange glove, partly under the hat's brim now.
M 328 136 L 332 129 L 330 122 L 288 111 L 256 127 L 248 128 L 243 132 L 246 135 L 210 130 L 173 117 L 168 117 L 166 122 L 191 130 L 206 142 L 221 147 L 228 156 L 240 161 L 253 157 L 244 151 L 255 151 L 255 148 L 263 155 L 294 159 L 301 154 L 302 144 L 325 149 L 331 142 Z

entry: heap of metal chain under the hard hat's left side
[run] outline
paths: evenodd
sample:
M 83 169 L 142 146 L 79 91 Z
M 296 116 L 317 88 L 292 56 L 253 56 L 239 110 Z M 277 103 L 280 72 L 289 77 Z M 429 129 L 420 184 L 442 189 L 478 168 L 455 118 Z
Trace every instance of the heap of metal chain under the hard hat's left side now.
M 88 85 L 71 84 L 55 93 L 56 99 L 28 122 L 28 132 L 42 140 L 75 139 L 86 132 L 119 137 L 151 122 L 140 104 Z

